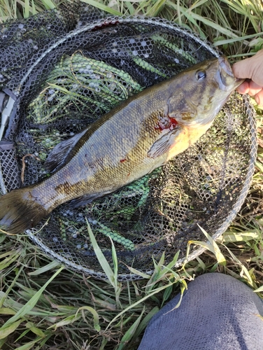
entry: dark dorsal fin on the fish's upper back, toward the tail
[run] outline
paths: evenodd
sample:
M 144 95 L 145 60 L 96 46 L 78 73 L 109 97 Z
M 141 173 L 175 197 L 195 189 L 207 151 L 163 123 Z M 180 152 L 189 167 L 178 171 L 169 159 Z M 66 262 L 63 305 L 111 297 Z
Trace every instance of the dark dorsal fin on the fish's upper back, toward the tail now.
M 79 132 L 78 134 L 74 135 L 73 137 L 70 137 L 69 139 L 66 139 L 57 144 L 57 146 L 55 146 L 52 149 L 52 151 L 48 155 L 47 160 L 45 161 L 45 170 L 47 172 L 55 172 L 55 170 L 62 167 L 66 160 L 66 157 L 69 155 L 70 151 L 76 145 L 78 140 L 81 137 L 83 137 L 86 131 L 87 128 L 82 132 Z

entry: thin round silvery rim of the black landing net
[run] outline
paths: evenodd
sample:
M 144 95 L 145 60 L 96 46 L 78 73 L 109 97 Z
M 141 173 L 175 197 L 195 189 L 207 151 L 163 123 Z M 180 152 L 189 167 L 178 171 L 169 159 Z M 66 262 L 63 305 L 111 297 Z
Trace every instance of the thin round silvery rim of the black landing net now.
M 30 76 L 31 72 L 34 70 L 34 67 L 37 64 L 39 64 L 41 62 L 41 59 L 43 59 L 46 55 L 48 55 L 49 52 L 51 52 L 52 50 L 57 48 L 58 45 L 60 45 L 61 43 L 64 43 L 64 41 L 66 41 L 69 38 L 73 38 L 74 36 L 77 36 L 78 34 L 81 34 L 85 31 L 91 31 L 95 27 L 100 27 L 100 26 L 104 25 L 106 22 L 113 23 L 114 21 L 118 22 L 118 23 L 123 23 L 123 24 L 137 22 L 137 23 L 155 25 L 158 27 L 163 27 L 165 29 L 171 29 L 173 31 L 179 32 L 180 34 L 183 34 L 184 36 L 188 36 L 188 37 L 194 39 L 194 41 L 197 41 L 197 43 L 200 43 L 201 47 L 206 48 L 206 50 L 210 51 L 215 57 L 220 56 L 220 52 L 218 50 L 216 50 L 215 48 L 213 48 L 211 43 L 208 43 L 208 41 L 205 41 L 204 39 L 199 38 L 199 36 L 197 36 L 197 34 L 194 34 L 191 31 L 191 29 L 188 29 L 187 27 L 182 27 L 180 25 L 177 25 L 176 23 L 172 23 L 169 20 L 164 20 L 161 18 L 145 18 L 142 15 L 138 15 L 138 16 L 125 16 L 125 15 L 124 16 L 115 16 L 115 15 L 108 16 L 107 15 L 104 18 L 99 18 L 99 20 L 94 20 L 94 22 L 92 22 L 92 24 L 90 24 L 90 25 L 84 25 L 83 27 L 79 27 L 78 29 L 74 29 L 73 31 L 70 31 L 69 34 L 64 35 L 62 38 L 59 38 L 55 43 L 53 43 L 50 46 L 50 48 L 45 50 L 42 53 L 42 55 L 40 57 L 38 57 L 38 59 L 36 59 L 34 64 L 32 64 L 30 69 L 23 76 L 22 80 L 20 81 L 20 84 L 17 86 L 16 94 L 18 95 L 20 93 L 20 90 L 22 89 L 22 85 L 26 82 L 27 78 Z M 249 102 L 250 98 L 248 97 L 248 95 L 245 98 L 247 101 L 246 102 L 247 111 L 250 109 L 250 111 L 248 111 L 248 121 L 249 121 L 249 125 L 250 125 L 250 139 L 256 140 L 257 139 L 257 127 L 256 127 L 256 121 L 255 121 L 254 114 L 253 114 L 253 106 Z M 220 237 L 220 235 L 222 235 L 222 233 L 225 232 L 225 230 L 227 230 L 227 227 L 234 220 L 234 218 L 238 214 L 239 210 L 241 209 L 241 206 L 246 199 L 246 195 L 248 193 L 248 190 L 250 188 L 250 183 L 251 183 L 252 178 L 253 178 L 256 158 L 257 158 L 257 143 L 252 142 L 251 148 L 250 148 L 250 162 L 249 162 L 249 166 L 248 166 L 248 173 L 246 175 L 246 181 L 243 184 L 243 188 L 241 190 L 241 193 L 238 197 L 238 200 L 236 200 L 236 203 L 234 204 L 232 211 L 229 212 L 229 215 L 225 219 L 224 223 L 220 226 L 220 228 L 218 228 L 218 230 L 216 230 L 215 234 L 212 236 L 213 239 L 218 239 L 218 237 Z M 0 168 L 1 168 L 1 164 L 0 164 Z M 2 172 L 1 172 L 1 175 L 2 175 Z M 6 188 L 4 187 L 4 184 L 2 182 L 3 181 L 0 181 L 1 188 L 3 187 L 2 190 L 6 191 Z M 49 255 L 50 257 L 54 258 L 55 260 L 66 265 L 66 267 L 74 269 L 75 271 L 78 271 L 78 272 L 83 272 L 84 274 L 87 274 L 89 276 L 93 276 L 94 278 L 97 278 L 97 279 L 104 279 L 104 280 L 108 279 L 106 274 L 104 274 L 103 272 L 98 272 L 98 271 L 95 271 L 94 269 L 83 267 L 83 265 L 79 265 L 76 262 L 70 261 L 68 258 L 64 258 L 62 255 L 59 255 L 58 253 L 55 253 L 55 251 L 52 251 L 50 248 L 48 248 L 48 246 L 43 244 L 43 241 L 41 241 L 40 239 L 38 239 L 38 237 L 36 237 L 33 230 L 27 230 L 26 234 L 27 234 L 27 236 L 29 236 L 29 238 L 32 241 L 34 241 L 34 243 L 37 246 L 39 246 L 41 248 L 41 250 L 45 254 Z M 208 234 L 209 234 L 209 232 L 208 232 Z M 178 260 L 176 262 L 176 265 L 174 265 L 174 267 L 180 267 L 184 263 L 189 262 L 190 260 L 194 260 L 195 258 L 197 258 L 197 256 L 201 255 L 201 253 L 204 253 L 204 251 L 206 251 L 205 248 L 197 248 L 192 253 L 190 253 L 190 255 L 188 255 L 187 258 L 186 257 L 180 258 L 180 260 Z M 154 272 L 154 269 L 148 269 L 146 271 L 143 271 L 143 274 L 151 275 L 153 272 Z M 139 276 L 138 274 L 134 274 L 134 273 L 118 274 L 118 280 L 129 281 L 129 280 L 138 280 L 138 279 L 143 279 L 143 277 Z

